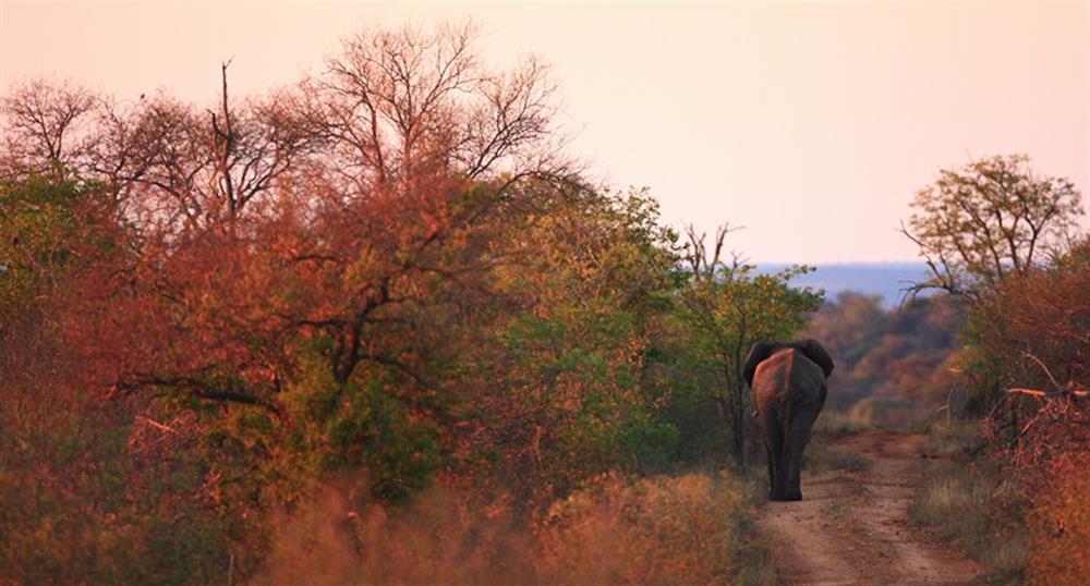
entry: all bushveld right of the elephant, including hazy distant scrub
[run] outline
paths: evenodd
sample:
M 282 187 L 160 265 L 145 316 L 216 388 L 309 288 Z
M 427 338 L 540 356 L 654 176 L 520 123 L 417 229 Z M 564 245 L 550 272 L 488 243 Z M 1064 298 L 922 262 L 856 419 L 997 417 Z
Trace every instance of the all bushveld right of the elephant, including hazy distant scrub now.
M 1036 175 L 1027 157 L 992 157 L 940 171 L 913 208 L 905 233 L 932 279 L 910 293 L 940 294 L 909 295 L 891 314 L 849 294 L 813 317 L 810 331 L 844 367 L 843 394 L 831 400 L 853 402 L 840 403 L 845 422 L 824 427 L 929 427 L 945 457 L 925 464 L 912 518 L 959 542 L 989 582 L 1082 583 L 1090 239 L 1078 235 L 1081 195 Z

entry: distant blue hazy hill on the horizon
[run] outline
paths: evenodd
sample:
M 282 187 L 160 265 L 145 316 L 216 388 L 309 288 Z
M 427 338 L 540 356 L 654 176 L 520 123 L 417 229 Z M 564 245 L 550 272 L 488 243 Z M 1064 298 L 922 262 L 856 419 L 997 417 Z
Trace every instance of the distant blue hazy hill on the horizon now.
M 788 265 L 758 264 L 760 272 L 775 272 Z M 883 307 L 896 307 L 904 295 L 901 291 L 909 282 L 919 282 L 928 277 L 928 268 L 922 263 L 838 263 L 816 265 L 818 270 L 792 282 L 825 290 L 825 297 L 836 298 L 843 291 L 856 291 L 867 295 L 881 295 Z

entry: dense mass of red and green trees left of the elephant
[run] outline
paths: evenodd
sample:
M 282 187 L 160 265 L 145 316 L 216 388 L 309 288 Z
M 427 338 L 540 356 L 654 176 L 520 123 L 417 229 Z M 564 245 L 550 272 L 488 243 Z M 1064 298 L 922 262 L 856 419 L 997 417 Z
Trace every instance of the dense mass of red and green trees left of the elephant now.
M 4 97 L 0 582 L 754 572 L 751 491 L 700 471 L 821 293 L 583 179 L 547 69 L 472 40 L 241 100 L 225 65 L 208 109 Z

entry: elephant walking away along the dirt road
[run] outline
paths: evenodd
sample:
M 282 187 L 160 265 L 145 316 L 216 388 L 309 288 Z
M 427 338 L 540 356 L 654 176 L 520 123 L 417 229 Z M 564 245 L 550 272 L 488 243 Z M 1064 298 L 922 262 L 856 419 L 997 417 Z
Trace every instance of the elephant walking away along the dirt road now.
M 815 340 L 753 344 L 742 378 L 753 391 L 753 405 L 768 454 L 768 498 L 802 500 L 802 451 L 828 394 L 833 359 Z

